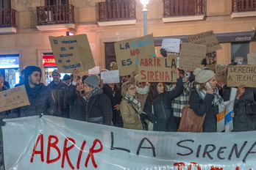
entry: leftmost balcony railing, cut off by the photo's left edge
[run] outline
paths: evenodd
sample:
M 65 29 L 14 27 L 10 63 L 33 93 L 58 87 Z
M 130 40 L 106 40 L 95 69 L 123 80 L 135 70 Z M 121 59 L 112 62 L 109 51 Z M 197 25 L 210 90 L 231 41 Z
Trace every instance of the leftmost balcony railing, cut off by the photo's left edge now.
M 16 11 L 13 9 L 1 10 L 0 27 L 16 27 Z

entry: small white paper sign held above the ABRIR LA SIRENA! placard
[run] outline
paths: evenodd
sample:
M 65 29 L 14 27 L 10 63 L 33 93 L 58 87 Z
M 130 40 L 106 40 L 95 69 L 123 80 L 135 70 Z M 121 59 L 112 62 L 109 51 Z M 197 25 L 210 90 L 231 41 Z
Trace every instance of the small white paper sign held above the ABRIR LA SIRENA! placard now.
M 162 48 L 168 52 L 179 53 L 180 39 L 166 38 L 163 39 Z

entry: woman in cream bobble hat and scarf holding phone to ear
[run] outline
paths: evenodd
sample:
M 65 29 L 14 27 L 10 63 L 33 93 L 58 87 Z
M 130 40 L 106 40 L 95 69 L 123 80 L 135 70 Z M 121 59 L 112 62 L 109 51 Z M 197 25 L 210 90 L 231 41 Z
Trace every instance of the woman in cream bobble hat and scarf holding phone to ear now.
M 198 116 L 206 114 L 203 132 L 217 132 L 216 115 L 224 108 L 224 100 L 218 93 L 215 73 L 196 68 L 193 74 L 196 82 L 189 97 L 190 106 Z

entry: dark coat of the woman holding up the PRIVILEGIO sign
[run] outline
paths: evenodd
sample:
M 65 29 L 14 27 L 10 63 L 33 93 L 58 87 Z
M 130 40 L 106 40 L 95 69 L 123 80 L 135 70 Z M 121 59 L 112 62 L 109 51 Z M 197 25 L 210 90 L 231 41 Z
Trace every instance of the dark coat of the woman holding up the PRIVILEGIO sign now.
M 85 121 L 86 100 L 76 94 L 76 86 L 71 84 L 65 92 L 65 100 L 69 103 L 69 118 Z

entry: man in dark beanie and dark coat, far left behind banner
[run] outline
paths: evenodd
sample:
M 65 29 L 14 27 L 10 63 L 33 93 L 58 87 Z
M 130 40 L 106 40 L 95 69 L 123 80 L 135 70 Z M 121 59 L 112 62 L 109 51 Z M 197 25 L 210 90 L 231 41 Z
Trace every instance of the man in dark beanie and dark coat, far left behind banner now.
M 28 66 L 24 70 L 24 85 L 29 98 L 29 106 L 14 108 L 8 118 L 30 117 L 40 114 L 54 115 L 56 105 L 51 97 L 51 91 L 41 81 L 41 69 Z

